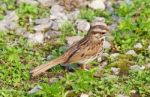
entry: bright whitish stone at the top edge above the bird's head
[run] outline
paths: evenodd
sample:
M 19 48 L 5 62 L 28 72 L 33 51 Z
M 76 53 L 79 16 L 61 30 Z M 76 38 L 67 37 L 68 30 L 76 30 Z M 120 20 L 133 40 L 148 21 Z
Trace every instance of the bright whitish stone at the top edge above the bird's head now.
M 105 0 L 92 0 L 88 6 L 92 9 L 100 9 L 100 10 L 105 10 Z

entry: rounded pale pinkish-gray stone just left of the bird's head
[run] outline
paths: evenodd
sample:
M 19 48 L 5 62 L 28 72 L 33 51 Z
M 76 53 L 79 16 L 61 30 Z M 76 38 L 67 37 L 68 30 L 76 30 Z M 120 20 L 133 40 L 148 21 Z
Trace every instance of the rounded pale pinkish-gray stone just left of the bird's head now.
M 86 20 L 77 21 L 77 30 L 82 32 L 88 32 L 90 29 L 90 23 Z

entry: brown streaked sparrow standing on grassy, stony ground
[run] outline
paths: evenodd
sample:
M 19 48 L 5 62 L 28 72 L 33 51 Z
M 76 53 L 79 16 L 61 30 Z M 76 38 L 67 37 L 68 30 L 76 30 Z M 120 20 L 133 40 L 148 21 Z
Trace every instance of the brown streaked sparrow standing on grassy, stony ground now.
M 56 59 L 46 64 L 37 66 L 30 71 L 35 77 L 58 64 L 82 64 L 81 68 L 86 70 L 86 65 L 95 60 L 103 52 L 103 42 L 109 27 L 105 22 L 95 21 L 91 23 L 90 30 L 83 39 L 72 44 L 68 50 Z

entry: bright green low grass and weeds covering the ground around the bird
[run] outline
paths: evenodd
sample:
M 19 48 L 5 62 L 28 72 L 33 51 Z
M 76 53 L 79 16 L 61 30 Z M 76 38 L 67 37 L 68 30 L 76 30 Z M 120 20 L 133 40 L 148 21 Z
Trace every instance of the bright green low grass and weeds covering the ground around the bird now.
M 47 17 L 49 10 L 21 4 L 16 6 L 14 0 L 3 0 L 8 6 L 0 6 L 0 20 L 4 18 L 5 12 L 15 10 L 19 16 L 20 26 L 28 29 L 28 17 L 37 19 Z M 48 71 L 47 74 L 37 78 L 30 77 L 30 69 L 45 63 L 46 57 L 50 54 L 51 59 L 61 55 L 66 48 L 65 37 L 77 35 L 74 25 L 65 22 L 60 29 L 62 35 L 58 37 L 59 42 L 46 42 L 43 45 L 28 44 L 27 39 L 12 32 L 0 32 L 0 96 L 4 97 L 76 97 L 81 93 L 89 94 L 91 97 L 117 96 L 124 94 L 140 97 L 150 96 L 150 71 L 130 70 L 131 65 L 143 66 L 150 63 L 150 51 L 147 49 L 150 39 L 150 8 L 149 0 L 134 0 L 130 5 L 121 3 L 115 8 L 115 15 L 121 18 L 118 28 L 112 32 L 115 37 L 113 42 L 121 53 L 116 59 L 108 57 L 108 65 L 103 70 L 94 67 L 89 71 L 77 69 L 73 73 L 64 72 L 60 66 Z M 40 16 L 39 16 L 40 14 Z M 108 24 L 113 22 L 112 14 L 108 12 L 81 9 L 79 18 L 91 22 L 94 17 L 103 16 Z M 32 32 L 32 25 L 31 32 Z M 30 29 L 28 29 L 30 31 Z M 140 42 L 142 49 L 135 49 L 133 46 Z M 134 49 L 136 56 L 126 55 L 126 51 Z M 111 72 L 111 67 L 121 68 L 119 76 Z M 98 75 L 98 77 L 95 77 Z M 62 76 L 62 78 L 60 78 Z M 55 78 L 53 83 L 50 80 Z M 28 91 L 34 86 L 40 85 L 42 90 L 34 94 Z

